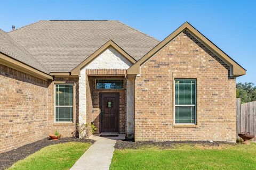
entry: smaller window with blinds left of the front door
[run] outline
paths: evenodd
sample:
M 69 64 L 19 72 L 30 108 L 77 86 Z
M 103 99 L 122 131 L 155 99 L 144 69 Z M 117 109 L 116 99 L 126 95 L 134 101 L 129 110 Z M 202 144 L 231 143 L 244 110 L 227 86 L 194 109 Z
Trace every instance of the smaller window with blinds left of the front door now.
M 55 122 L 73 121 L 73 84 L 55 84 Z

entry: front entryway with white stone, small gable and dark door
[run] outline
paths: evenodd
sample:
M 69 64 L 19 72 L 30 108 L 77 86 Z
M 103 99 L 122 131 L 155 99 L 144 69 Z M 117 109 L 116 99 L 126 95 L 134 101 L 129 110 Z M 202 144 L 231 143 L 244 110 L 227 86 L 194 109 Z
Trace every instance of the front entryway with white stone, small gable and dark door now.
M 109 40 L 73 70 L 73 73 L 79 72 L 79 124 L 93 124 L 95 135 L 113 137 L 129 132 L 127 137 L 133 137 L 134 78 L 127 78 L 127 69 L 135 62 Z M 116 93 L 118 96 L 113 96 Z M 103 95 L 101 99 L 101 94 L 111 95 Z M 108 101 L 110 98 L 113 103 Z

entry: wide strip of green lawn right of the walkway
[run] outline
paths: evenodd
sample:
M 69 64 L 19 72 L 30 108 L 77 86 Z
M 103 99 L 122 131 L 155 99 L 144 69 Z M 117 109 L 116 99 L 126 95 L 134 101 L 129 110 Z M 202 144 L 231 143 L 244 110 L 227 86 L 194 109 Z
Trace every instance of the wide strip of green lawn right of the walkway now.
M 256 143 L 174 149 L 116 149 L 110 169 L 256 169 Z

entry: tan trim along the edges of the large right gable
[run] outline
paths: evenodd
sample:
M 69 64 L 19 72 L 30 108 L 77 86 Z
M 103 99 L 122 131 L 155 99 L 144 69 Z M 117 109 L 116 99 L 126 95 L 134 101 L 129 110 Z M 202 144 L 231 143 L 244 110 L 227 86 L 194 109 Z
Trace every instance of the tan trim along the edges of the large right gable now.
M 238 77 L 240 75 L 244 75 L 246 70 L 236 63 L 231 57 L 229 57 L 226 53 L 224 53 L 220 48 L 215 46 L 209 39 L 202 35 L 201 32 L 196 30 L 192 25 L 188 22 L 182 24 L 177 30 L 171 33 L 168 37 L 166 37 L 161 43 L 151 49 L 145 56 L 143 56 L 137 63 L 131 66 L 127 70 L 127 74 L 140 74 L 140 66 L 147 62 L 150 57 L 156 54 L 159 50 L 161 50 L 165 45 L 167 45 L 171 40 L 177 37 L 181 32 L 187 30 L 191 35 L 193 35 L 196 39 L 201 41 L 207 48 L 209 48 L 214 54 L 217 54 L 218 57 L 221 58 L 224 62 L 231 66 L 231 72 L 234 77 Z

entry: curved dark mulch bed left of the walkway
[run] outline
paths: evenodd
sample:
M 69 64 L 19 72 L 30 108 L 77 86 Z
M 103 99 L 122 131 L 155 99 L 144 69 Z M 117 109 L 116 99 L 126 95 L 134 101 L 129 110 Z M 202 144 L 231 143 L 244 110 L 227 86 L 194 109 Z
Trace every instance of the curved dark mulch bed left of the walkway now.
M 27 156 L 35 153 L 36 151 L 58 143 L 67 143 L 67 142 L 89 142 L 93 143 L 94 140 L 91 139 L 78 139 L 78 138 L 60 138 L 58 141 L 53 141 L 50 139 L 42 139 L 33 143 L 29 143 L 25 146 L 13 149 L 7 152 L 0 154 L 0 170 L 9 168 L 18 160 L 24 159 Z

